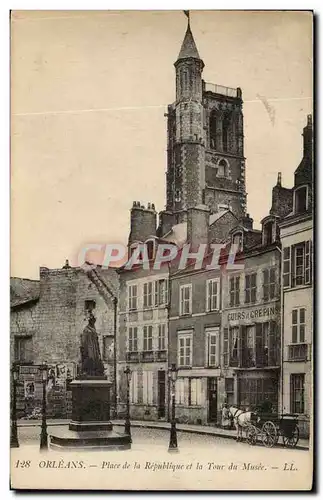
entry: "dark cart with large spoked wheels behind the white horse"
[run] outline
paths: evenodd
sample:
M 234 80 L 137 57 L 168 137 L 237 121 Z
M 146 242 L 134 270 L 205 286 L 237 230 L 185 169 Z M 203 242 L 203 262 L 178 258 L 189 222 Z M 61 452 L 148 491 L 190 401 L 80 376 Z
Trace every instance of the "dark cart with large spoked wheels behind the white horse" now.
M 247 430 L 247 441 L 249 444 L 255 445 L 261 437 L 262 443 L 272 448 L 275 446 L 279 437 L 282 437 L 284 446 L 295 448 L 299 439 L 298 420 L 296 415 L 259 415 L 258 418 L 251 423 Z

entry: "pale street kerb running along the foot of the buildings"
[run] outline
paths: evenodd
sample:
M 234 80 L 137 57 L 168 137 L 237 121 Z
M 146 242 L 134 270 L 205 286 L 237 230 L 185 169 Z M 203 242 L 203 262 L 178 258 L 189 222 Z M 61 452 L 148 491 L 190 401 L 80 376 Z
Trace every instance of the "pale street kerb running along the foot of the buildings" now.
M 123 420 L 111 420 L 112 424 L 114 425 L 124 425 Z M 69 420 L 65 421 L 60 421 L 60 422 L 50 422 L 48 423 L 49 426 L 54 427 L 54 426 L 59 426 L 59 425 L 68 425 Z M 37 427 L 40 426 L 41 422 L 40 421 L 33 421 L 33 422 L 18 422 L 18 427 Z M 167 422 L 165 424 L 158 424 L 156 425 L 154 422 L 131 422 L 131 427 L 138 427 L 138 428 L 145 428 L 145 429 L 161 429 L 161 430 L 166 430 L 168 431 L 170 429 L 170 424 Z M 216 429 L 210 428 L 208 429 L 193 429 L 192 427 L 190 428 L 183 428 L 181 424 L 176 425 L 177 431 L 178 432 L 188 432 L 191 434 L 199 434 L 199 435 L 207 435 L 207 436 L 214 436 L 214 437 L 222 437 L 224 439 L 236 439 L 236 436 L 234 434 L 227 434 L 227 433 L 222 433 L 217 431 Z M 276 445 L 276 447 L 283 448 L 283 445 Z M 309 450 L 309 446 L 303 446 L 303 445 L 297 445 L 295 447 L 296 450 Z

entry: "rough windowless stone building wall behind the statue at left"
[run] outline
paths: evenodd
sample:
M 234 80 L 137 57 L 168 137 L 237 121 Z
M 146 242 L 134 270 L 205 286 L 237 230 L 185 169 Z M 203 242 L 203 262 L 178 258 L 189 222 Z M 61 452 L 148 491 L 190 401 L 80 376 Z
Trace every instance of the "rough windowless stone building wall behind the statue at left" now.
M 117 296 L 115 271 L 99 272 Z M 89 311 L 96 317 L 100 351 L 113 391 L 114 304 L 92 274 L 66 264 L 62 269 L 41 267 L 39 281 L 11 279 L 10 356 L 20 366 L 17 405 L 22 417 L 41 407 L 37 366 L 44 362 L 49 366 L 48 414 L 70 416 L 69 382 L 77 375 L 80 336 Z

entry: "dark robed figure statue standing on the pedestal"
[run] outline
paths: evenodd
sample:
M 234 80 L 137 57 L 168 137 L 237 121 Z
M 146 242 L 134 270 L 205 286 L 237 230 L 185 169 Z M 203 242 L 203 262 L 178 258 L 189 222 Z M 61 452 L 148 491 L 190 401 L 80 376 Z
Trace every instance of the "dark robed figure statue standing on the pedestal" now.
M 81 335 L 81 376 L 102 376 L 104 366 L 101 360 L 98 335 L 95 329 L 96 319 L 89 313 L 89 322 Z

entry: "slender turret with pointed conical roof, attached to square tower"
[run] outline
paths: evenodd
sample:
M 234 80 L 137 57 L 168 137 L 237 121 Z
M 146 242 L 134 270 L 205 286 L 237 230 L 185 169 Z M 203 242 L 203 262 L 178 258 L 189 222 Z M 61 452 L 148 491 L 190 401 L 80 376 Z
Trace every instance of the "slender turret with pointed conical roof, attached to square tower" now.
M 185 218 L 188 208 L 204 199 L 203 67 L 188 23 L 175 62 L 176 101 L 168 106 L 166 210 L 179 214 L 179 220 Z

